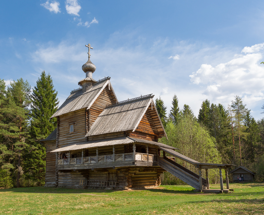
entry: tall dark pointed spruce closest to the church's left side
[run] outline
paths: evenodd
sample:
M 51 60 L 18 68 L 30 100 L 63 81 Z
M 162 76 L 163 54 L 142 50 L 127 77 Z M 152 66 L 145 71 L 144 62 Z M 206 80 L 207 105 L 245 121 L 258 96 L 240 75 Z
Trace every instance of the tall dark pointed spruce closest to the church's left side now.
M 25 177 L 43 185 L 45 182 L 46 147 L 42 140 L 57 126 L 56 118 L 50 119 L 58 108 L 58 98 L 50 74 L 43 71 L 32 90 L 30 147 L 25 154 Z

